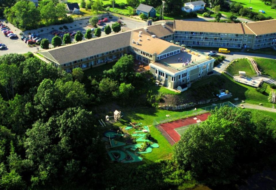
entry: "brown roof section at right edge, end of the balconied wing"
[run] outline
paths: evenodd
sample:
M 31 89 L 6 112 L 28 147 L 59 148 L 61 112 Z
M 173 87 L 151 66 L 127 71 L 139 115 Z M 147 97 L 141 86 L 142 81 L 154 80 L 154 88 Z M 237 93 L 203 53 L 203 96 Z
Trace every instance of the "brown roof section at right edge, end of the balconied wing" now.
M 247 26 L 256 35 L 276 32 L 276 19 L 250 22 L 244 25 L 245 25 L 245 28 Z

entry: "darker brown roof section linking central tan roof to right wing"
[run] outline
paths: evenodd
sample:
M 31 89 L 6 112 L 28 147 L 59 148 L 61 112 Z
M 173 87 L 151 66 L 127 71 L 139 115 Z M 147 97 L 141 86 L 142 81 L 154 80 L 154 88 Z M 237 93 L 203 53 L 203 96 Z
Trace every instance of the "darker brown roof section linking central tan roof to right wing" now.
M 172 35 L 173 31 L 173 24 L 166 24 L 165 28 L 161 24 L 156 24 L 152 26 L 146 26 L 147 32 L 144 29 L 135 30 L 135 32 L 143 31 L 145 35 L 156 35 L 156 37 L 161 38 L 167 35 Z

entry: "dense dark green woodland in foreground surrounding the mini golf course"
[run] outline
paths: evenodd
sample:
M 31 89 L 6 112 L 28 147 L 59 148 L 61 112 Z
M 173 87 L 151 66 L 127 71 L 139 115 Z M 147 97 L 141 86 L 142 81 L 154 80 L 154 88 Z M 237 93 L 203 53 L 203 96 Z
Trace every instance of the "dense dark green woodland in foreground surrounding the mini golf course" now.
M 110 103 L 151 107 L 151 84 L 148 74 L 134 72 L 131 55 L 88 78 L 81 69 L 60 73 L 31 53 L 1 56 L 0 189 L 219 187 L 275 169 L 276 122 L 227 107 L 189 128 L 172 159 L 110 163 L 95 110 Z

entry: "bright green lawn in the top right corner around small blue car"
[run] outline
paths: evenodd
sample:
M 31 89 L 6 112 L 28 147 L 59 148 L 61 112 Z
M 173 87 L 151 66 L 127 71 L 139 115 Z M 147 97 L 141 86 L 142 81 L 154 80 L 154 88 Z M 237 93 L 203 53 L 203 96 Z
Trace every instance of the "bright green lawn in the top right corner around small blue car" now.
M 251 2 L 249 3 L 249 0 L 235 0 L 232 2 L 238 2 L 241 3 L 244 7 L 252 7 L 252 11 L 254 12 L 259 12 L 259 10 L 265 11 L 264 16 L 271 16 L 272 18 L 275 18 L 276 16 L 276 10 L 271 9 L 270 5 L 265 5 L 262 1 L 260 0 L 250 0 Z

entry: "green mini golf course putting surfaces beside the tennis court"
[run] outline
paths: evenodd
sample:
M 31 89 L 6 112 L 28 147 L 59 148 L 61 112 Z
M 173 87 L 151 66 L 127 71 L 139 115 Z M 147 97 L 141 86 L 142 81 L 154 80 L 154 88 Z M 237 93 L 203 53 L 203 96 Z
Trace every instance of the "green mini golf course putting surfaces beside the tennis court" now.
M 138 126 L 138 125 L 142 125 L 142 123 L 138 123 L 135 126 Z M 124 129 L 130 130 L 132 128 L 133 128 L 132 126 L 127 126 Z M 126 145 L 126 143 L 117 141 L 117 139 L 114 140 L 114 138 L 116 138 L 116 136 L 124 136 L 124 134 L 121 134 L 121 133 L 117 134 L 114 131 L 106 131 L 104 133 L 104 136 L 108 139 L 109 138 L 111 139 L 111 140 L 106 139 L 106 141 L 110 143 L 110 145 L 107 145 L 108 148 L 124 146 L 122 150 L 108 151 L 108 155 L 111 158 L 111 160 L 122 162 L 122 163 L 131 163 L 131 162 L 142 161 L 143 158 L 140 156 L 137 156 L 136 154 L 151 153 L 153 148 L 159 148 L 159 145 L 157 143 L 153 143 L 152 145 L 149 145 L 145 151 L 142 151 L 142 152 L 136 151 L 138 148 L 143 147 L 144 142 L 151 142 L 150 140 L 145 139 L 146 133 L 141 133 L 141 132 L 150 132 L 150 128 L 148 126 L 143 126 L 143 130 L 137 130 L 137 131 L 135 131 L 135 133 L 131 134 L 131 136 L 138 137 L 137 139 L 135 139 L 137 142 L 143 142 L 143 143 L 137 143 L 137 144 L 133 144 L 133 145 L 124 146 L 124 145 Z M 126 149 L 130 149 L 131 151 L 136 151 L 136 152 L 133 153 Z

